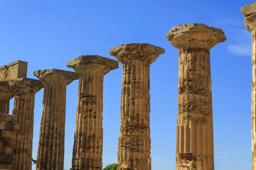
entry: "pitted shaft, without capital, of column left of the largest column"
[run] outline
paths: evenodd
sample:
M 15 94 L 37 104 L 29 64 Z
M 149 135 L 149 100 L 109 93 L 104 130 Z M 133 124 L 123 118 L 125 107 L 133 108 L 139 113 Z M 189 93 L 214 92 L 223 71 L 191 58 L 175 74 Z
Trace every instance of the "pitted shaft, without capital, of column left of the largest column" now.
M 123 65 L 119 170 L 151 170 L 149 65 L 133 61 Z M 124 169 L 125 170 L 125 169 Z

